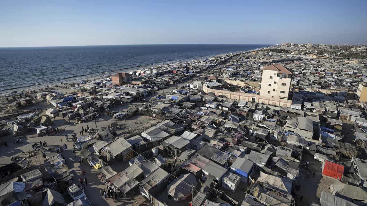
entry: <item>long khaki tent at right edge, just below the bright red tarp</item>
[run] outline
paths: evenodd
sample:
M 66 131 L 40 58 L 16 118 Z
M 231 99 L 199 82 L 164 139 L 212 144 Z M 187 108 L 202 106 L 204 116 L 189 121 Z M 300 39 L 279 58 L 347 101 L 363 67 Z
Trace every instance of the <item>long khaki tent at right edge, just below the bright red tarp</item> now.
M 333 195 L 338 194 L 351 199 L 367 201 L 367 192 L 362 188 L 345 184 L 338 180 L 330 185 L 330 191 Z

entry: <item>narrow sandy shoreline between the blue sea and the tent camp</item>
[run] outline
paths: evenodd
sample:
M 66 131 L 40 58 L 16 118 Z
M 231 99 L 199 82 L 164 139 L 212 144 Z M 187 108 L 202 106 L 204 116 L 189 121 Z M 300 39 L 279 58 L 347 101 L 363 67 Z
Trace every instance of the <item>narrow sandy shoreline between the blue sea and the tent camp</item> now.
M 271 45 L 272 46 L 272 45 Z M 268 47 L 271 47 L 268 46 Z M 268 48 L 268 47 L 260 47 L 257 49 L 262 49 L 262 48 Z M 141 65 L 141 66 L 134 66 L 134 67 L 126 67 L 123 69 L 118 69 L 118 70 L 111 70 L 111 71 L 107 71 L 107 72 L 103 72 L 103 73 L 99 73 L 99 74 L 90 74 L 87 76 L 83 76 L 82 74 L 80 74 L 79 76 L 76 77 L 67 77 L 64 78 L 63 80 L 58 80 L 58 81 L 53 81 L 53 82 L 45 82 L 45 83 L 41 83 L 39 85 L 32 85 L 29 87 L 19 87 L 19 88 L 14 88 L 14 89 L 10 89 L 7 91 L 1 91 L 0 92 L 0 97 L 2 96 L 6 96 L 11 94 L 13 91 L 17 91 L 17 93 L 21 93 L 21 92 L 25 92 L 26 90 L 37 90 L 40 88 L 46 88 L 47 86 L 52 86 L 52 85 L 60 85 L 61 82 L 65 82 L 67 84 L 73 83 L 73 82 L 79 82 L 80 80 L 92 80 L 98 77 L 102 77 L 102 76 L 106 76 L 106 75 L 110 75 L 111 73 L 118 73 L 118 72 L 131 72 L 131 71 L 137 71 L 139 69 L 144 69 L 145 67 L 154 67 L 154 66 L 164 66 L 167 64 L 171 64 L 171 63 L 185 63 L 185 62 L 190 62 L 192 60 L 201 60 L 201 59 L 207 59 L 207 58 L 213 58 L 215 56 L 219 56 L 219 55 L 225 55 L 225 54 L 239 54 L 239 53 L 243 53 L 243 52 L 251 52 L 251 51 L 255 51 L 257 49 L 251 49 L 251 50 L 245 50 L 245 51 L 235 51 L 235 52 L 225 52 L 225 53 L 221 53 L 221 54 L 217 54 L 217 55 L 210 55 L 210 56 L 197 56 L 195 58 L 189 58 L 189 59 L 179 59 L 179 60 L 172 60 L 172 61 L 166 61 L 166 62 L 160 62 L 160 63 L 154 63 L 154 64 L 147 64 L 147 65 Z M 35 87 L 36 86 L 36 87 Z

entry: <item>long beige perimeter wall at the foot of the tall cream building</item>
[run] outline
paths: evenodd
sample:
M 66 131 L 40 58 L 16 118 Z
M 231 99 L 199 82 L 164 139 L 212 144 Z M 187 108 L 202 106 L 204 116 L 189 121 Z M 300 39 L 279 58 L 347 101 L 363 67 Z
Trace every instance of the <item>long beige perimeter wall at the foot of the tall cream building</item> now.
M 271 104 L 275 106 L 281 107 L 291 107 L 292 100 L 288 99 L 275 99 L 275 98 L 268 98 L 266 96 L 251 94 L 251 93 L 244 93 L 244 92 L 230 92 L 230 91 L 223 91 L 219 89 L 210 89 L 203 86 L 203 91 L 205 93 L 215 93 L 215 95 L 223 95 L 226 96 L 228 99 L 236 99 L 236 100 L 246 100 L 248 102 L 257 102 L 257 103 L 264 103 L 264 104 Z M 255 101 L 253 101 L 255 100 Z

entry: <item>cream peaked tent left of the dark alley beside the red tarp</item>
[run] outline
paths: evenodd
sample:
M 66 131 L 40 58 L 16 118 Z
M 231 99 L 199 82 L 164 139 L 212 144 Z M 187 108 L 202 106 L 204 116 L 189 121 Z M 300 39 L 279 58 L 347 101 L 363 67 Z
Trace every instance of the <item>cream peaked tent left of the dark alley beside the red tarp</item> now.
M 291 179 L 265 174 L 260 171 L 260 176 L 257 179 L 257 181 L 263 183 L 263 185 L 265 185 L 266 187 L 273 188 L 288 194 L 291 193 L 292 189 Z

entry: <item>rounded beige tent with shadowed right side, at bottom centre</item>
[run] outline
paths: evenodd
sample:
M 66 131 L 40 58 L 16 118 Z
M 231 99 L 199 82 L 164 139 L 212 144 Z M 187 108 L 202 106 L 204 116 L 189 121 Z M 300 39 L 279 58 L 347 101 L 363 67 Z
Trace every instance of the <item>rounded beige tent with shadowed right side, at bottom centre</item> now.
M 178 180 L 175 179 L 167 186 L 167 195 L 175 202 L 183 201 L 190 195 L 191 186 L 196 187 L 196 185 L 197 181 L 193 174 L 181 174 Z

